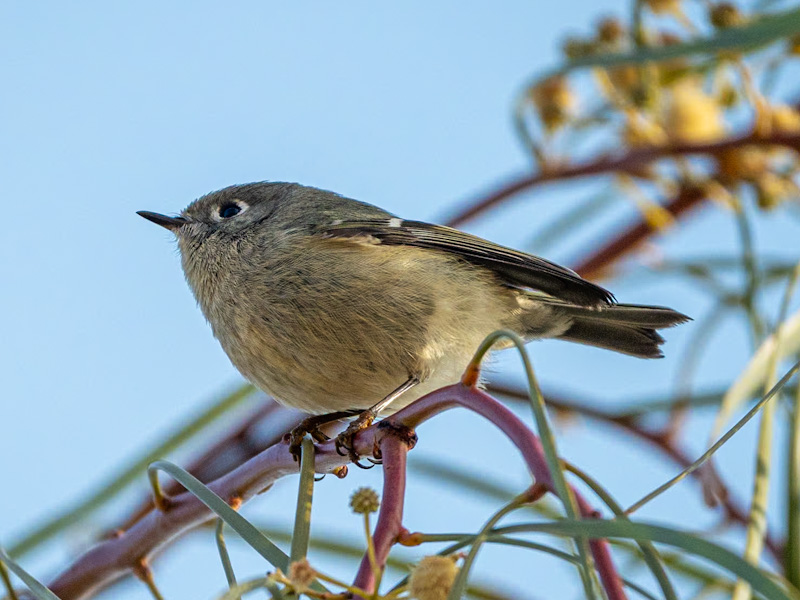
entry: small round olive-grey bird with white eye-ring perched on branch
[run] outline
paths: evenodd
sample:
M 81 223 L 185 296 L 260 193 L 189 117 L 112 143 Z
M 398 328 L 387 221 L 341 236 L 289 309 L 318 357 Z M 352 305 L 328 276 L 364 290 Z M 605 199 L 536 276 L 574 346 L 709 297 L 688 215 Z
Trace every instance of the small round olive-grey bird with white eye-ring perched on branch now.
M 251 183 L 169 217 L 140 211 L 178 240 L 183 271 L 231 362 L 318 425 L 381 413 L 458 381 L 483 339 L 510 329 L 641 358 L 658 329 L 688 320 L 610 292 L 543 258 L 296 183 Z M 364 411 L 364 412 L 362 412 Z

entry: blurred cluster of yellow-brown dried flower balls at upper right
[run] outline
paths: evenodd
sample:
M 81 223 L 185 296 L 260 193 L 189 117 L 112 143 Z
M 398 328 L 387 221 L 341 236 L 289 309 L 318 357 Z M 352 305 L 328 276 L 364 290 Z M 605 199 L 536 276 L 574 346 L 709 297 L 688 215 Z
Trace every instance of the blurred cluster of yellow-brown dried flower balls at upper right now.
M 568 61 L 602 59 L 608 54 L 633 53 L 641 46 L 673 46 L 692 41 L 699 31 L 713 35 L 746 26 L 757 16 L 745 14 L 734 3 L 711 2 L 700 21 L 692 22 L 681 0 L 645 0 L 642 13 L 641 22 L 630 29 L 619 19 L 605 18 L 592 35 L 568 38 L 563 45 L 565 57 Z M 696 11 L 692 14 L 698 18 Z M 677 33 L 676 21 L 682 26 Z M 800 54 L 800 36 L 780 45 L 777 52 L 770 63 L 773 68 Z M 800 131 L 798 109 L 768 99 L 758 87 L 763 65 L 751 64 L 741 53 L 718 53 L 713 62 L 686 55 L 600 65 L 602 60 L 592 68 L 596 88 L 592 92 L 578 79 L 579 72 L 549 75 L 529 87 L 527 106 L 536 115 L 544 139 L 537 141 L 535 128 L 524 118 L 524 107 L 518 121 L 542 168 L 550 168 L 550 162 L 565 162 L 544 150 L 544 142 L 552 150 L 557 133 L 562 139 L 572 139 L 571 134 L 594 129 L 635 151 L 716 144 L 748 133 L 766 137 Z M 794 150 L 743 143 L 720 152 L 714 166 L 715 170 L 683 157 L 669 157 L 638 175 L 661 190 L 680 188 L 687 181 L 698 187 L 722 186 L 727 196 L 748 190 L 762 209 L 800 196 L 796 181 L 800 161 Z M 729 201 L 726 205 L 738 204 Z

